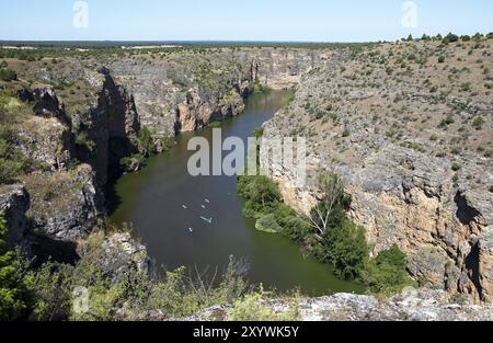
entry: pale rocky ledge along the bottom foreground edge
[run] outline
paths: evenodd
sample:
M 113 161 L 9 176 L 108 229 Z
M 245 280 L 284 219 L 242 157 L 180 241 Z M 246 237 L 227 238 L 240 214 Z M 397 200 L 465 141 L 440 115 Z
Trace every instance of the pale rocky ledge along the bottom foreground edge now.
M 336 294 L 305 299 L 297 305 L 300 321 L 491 321 L 493 306 L 457 304 L 443 290 L 409 289 L 380 300 L 371 296 Z M 287 300 L 267 300 L 264 306 L 282 316 L 293 310 Z M 229 306 L 209 308 L 186 318 L 220 321 L 228 318 Z

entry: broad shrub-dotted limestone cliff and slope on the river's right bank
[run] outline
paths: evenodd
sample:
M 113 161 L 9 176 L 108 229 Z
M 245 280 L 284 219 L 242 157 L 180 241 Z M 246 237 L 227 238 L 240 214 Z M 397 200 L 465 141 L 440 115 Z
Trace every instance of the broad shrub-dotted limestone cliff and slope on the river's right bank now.
M 457 66 L 444 67 L 450 71 L 437 73 L 432 60 L 440 49 L 460 57 Z M 349 215 L 366 228 L 374 255 L 398 244 L 421 285 L 493 300 L 493 160 L 486 138 L 493 133 L 493 103 L 481 84 L 463 90 L 472 84 L 467 80 L 483 78 L 480 66 L 455 72 L 486 55 L 389 44 L 341 52 L 307 76 L 295 101 L 265 126 L 267 137 L 308 141 L 306 186 L 295 187 L 293 171 L 271 168 L 285 201 L 308 213 L 319 196 L 317 172 L 333 171 L 346 183 Z M 401 66 L 405 56 L 411 60 L 405 71 L 385 67 Z M 447 72 L 452 76 L 443 94 L 426 89 L 426 80 L 445 82 Z

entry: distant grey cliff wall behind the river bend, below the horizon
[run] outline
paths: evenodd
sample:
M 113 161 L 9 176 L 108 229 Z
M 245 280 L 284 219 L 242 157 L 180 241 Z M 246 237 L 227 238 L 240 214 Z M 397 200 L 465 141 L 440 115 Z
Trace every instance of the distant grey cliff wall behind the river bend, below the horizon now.
M 225 48 L 152 60 L 124 58 L 110 67 L 115 79 L 135 94 L 142 124 L 171 136 L 240 113 L 254 83 L 294 87 L 330 55 L 301 48 Z

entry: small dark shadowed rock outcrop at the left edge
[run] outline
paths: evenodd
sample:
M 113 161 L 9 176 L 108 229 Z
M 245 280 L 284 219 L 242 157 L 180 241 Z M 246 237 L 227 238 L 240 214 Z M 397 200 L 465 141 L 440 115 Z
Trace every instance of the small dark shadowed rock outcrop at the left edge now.
M 24 253 L 30 253 L 30 232 L 25 213 L 30 208 L 30 195 L 23 185 L 0 187 L 0 213 L 3 214 L 7 227 L 7 247 L 21 247 Z

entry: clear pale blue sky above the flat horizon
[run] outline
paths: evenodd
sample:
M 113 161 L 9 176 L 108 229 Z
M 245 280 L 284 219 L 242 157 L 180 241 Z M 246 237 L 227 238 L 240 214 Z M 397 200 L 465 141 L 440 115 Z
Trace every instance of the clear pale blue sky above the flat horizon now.
M 492 0 L 416 0 L 417 26 L 403 27 L 403 0 L 0 0 L 0 39 L 309 41 L 397 39 L 409 33 L 488 33 Z

